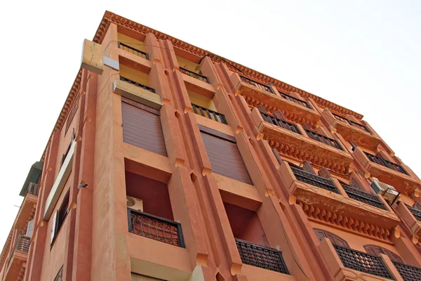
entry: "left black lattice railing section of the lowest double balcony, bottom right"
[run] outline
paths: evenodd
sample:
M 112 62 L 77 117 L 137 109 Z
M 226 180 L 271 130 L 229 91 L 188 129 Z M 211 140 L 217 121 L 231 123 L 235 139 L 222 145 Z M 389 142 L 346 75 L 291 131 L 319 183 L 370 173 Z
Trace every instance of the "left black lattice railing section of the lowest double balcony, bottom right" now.
M 389 270 L 387 270 L 382 258 L 338 245 L 333 245 L 333 247 L 338 253 L 340 261 L 342 261 L 346 268 L 393 280 L 393 277 L 389 273 Z

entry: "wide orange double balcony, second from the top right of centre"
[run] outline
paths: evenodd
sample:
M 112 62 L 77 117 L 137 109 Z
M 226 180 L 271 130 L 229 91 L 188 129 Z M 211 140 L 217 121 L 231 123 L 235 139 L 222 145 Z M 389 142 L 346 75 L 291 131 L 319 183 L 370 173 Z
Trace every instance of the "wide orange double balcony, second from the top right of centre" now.
M 335 147 L 335 145 L 340 146 L 326 136 L 307 133 L 301 130 L 300 126 L 260 113 L 257 108 L 252 110 L 252 118 L 258 127 L 260 138 L 267 140 L 281 155 L 300 161 L 308 160 L 340 174 L 345 174 L 349 164 L 352 163 L 352 156 Z M 309 135 L 305 136 L 304 133 Z

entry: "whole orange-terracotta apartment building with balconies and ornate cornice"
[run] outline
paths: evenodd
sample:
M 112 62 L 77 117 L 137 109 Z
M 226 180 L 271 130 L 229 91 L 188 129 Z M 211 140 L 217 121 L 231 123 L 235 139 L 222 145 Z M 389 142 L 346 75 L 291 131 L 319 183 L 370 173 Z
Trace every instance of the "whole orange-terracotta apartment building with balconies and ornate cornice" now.
M 421 280 L 421 181 L 362 115 L 106 12 L 1 280 Z

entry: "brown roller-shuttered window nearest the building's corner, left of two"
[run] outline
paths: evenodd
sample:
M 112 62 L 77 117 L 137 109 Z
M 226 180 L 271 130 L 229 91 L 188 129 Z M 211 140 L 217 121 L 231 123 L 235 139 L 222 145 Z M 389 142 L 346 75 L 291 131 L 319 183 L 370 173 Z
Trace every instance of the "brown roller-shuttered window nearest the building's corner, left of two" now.
M 121 98 L 123 141 L 166 156 L 159 111 L 127 98 Z

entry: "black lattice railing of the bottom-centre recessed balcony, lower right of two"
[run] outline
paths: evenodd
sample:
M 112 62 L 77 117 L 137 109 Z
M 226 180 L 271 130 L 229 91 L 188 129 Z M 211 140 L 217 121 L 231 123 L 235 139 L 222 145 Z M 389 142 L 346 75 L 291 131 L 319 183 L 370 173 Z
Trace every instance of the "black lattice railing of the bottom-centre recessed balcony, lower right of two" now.
M 281 251 L 240 239 L 235 239 L 235 242 L 242 263 L 283 274 L 289 274 L 285 261 L 283 261 Z

